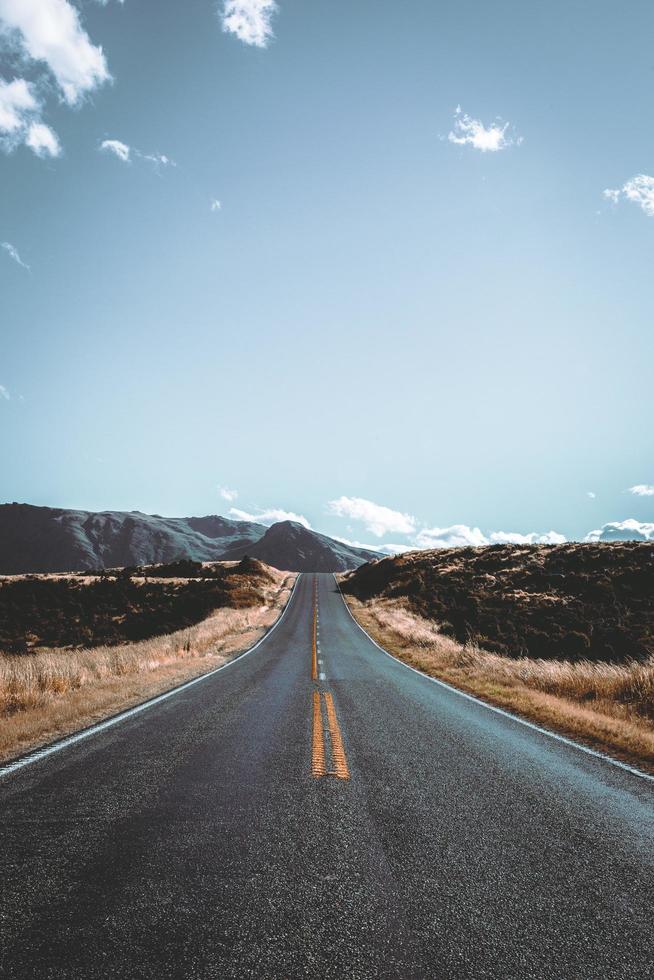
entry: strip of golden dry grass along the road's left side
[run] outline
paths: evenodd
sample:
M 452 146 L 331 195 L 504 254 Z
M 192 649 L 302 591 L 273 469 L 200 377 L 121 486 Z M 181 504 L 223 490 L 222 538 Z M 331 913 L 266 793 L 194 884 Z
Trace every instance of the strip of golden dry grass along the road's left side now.
M 270 574 L 261 605 L 218 609 L 175 633 L 91 650 L 0 656 L 0 759 L 138 704 L 252 646 L 280 615 L 296 578 Z

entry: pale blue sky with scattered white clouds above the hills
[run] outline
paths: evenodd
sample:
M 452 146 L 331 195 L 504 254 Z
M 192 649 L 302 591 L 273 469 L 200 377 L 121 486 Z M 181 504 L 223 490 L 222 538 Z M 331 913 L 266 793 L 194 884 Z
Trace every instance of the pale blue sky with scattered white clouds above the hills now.
M 0 22 L 0 499 L 654 535 L 650 3 Z

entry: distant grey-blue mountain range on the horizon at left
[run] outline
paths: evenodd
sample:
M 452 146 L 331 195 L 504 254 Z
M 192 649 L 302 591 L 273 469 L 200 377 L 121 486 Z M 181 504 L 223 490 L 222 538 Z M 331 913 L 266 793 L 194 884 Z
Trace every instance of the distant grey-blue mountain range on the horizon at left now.
M 284 571 L 343 571 L 379 555 L 299 524 L 270 528 L 225 517 L 160 517 L 139 511 L 62 510 L 0 504 L 0 574 L 70 572 L 244 555 Z

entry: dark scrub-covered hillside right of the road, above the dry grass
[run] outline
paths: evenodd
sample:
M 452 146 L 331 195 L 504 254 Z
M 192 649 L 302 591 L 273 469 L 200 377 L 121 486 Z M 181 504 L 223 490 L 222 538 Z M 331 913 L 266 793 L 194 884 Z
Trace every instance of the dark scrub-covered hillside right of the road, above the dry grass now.
M 617 663 L 654 654 L 654 544 L 413 552 L 352 572 L 343 590 L 405 598 L 445 636 L 506 657 Z

